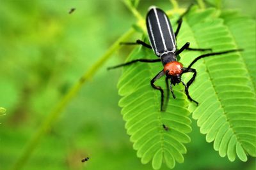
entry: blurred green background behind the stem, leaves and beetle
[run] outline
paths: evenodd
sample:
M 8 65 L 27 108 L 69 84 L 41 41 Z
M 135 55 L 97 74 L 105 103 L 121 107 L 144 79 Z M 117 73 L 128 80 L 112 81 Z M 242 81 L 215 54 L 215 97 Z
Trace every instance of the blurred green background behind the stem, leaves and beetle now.
M 214 2 L 209 0 L 209 2 Z M 179 1 L 188 6 L 191 1 Z M 223 1 L 255 18 L 255 1 Z M 141 1 L 165 10 L 170 1 Z M 255 7 L 255 5 L 254 5 Z M 68 14 L 71 8 L 76 8 Z M 120 0 L 0 0 L 0 169 L 10 169 L 29 139 L 84 71 L 136 22 Z M 132 40 L 139 38 L 137 34 Z M 121 48 L 100 66 L 42 138 L 23 169 L 152 169 L 132 149 L 120 115 L 116 83 L 131 48 Z M 254 169 L 255 159 L 229 162 L 205 142 L 193 122 L 184 164 L 175 169 Z M 83 157 L 90 160 L 81 163 Z M 163 166 L 163 169 L 166 169 Z

